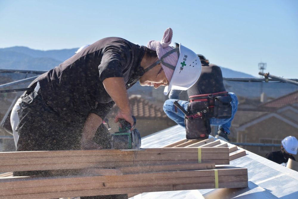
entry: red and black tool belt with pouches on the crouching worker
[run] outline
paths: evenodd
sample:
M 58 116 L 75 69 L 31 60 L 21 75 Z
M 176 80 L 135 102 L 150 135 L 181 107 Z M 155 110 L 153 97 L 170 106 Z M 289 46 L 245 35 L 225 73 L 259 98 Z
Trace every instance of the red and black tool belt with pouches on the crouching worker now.
M 211 127 L 210 118 L 226 119 L 232 116 L 232 98 L 229 93 L 217 92 L 189 97 L 185 129 L 187 139 L 208 138 Z

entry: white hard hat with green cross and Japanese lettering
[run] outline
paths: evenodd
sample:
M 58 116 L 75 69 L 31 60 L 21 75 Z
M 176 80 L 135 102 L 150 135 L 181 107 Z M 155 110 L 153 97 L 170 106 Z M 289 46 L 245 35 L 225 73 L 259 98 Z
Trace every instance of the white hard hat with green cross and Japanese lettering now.
M 164 88 L 164 95 L 171 89 L 187 90 L 201 75 L 201 61 L 198 55 L 192 50 L 179 44 L 179 58 L 169 86 Z

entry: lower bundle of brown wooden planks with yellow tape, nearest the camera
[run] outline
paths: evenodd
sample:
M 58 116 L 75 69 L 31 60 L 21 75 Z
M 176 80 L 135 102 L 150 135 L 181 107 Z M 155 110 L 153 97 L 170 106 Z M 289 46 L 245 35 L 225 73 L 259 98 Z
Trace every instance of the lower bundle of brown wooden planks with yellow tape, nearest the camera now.
M 187 189 L 247 186 L 247 170 L 187 170 L 113 176 L 7 178 L 0 181 L 1 198 L 59 198 Z

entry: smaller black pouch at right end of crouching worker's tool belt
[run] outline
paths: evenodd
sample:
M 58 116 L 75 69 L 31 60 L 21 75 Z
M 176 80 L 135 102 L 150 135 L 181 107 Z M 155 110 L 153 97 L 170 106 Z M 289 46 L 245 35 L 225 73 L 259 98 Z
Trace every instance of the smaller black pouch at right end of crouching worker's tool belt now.
M 217 119 L 228 119 L 232 117 L 232 98 L 230 95 L 215 97 L 214 117 Z

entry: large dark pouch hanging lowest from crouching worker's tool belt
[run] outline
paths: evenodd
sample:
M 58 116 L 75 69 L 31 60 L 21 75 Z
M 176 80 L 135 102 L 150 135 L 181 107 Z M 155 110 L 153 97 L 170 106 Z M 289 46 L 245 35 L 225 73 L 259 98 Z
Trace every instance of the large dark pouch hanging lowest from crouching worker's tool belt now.
M 211 132 L 209 115 L 206 109 L 185 116 L 186 139 L 206 139 Z

